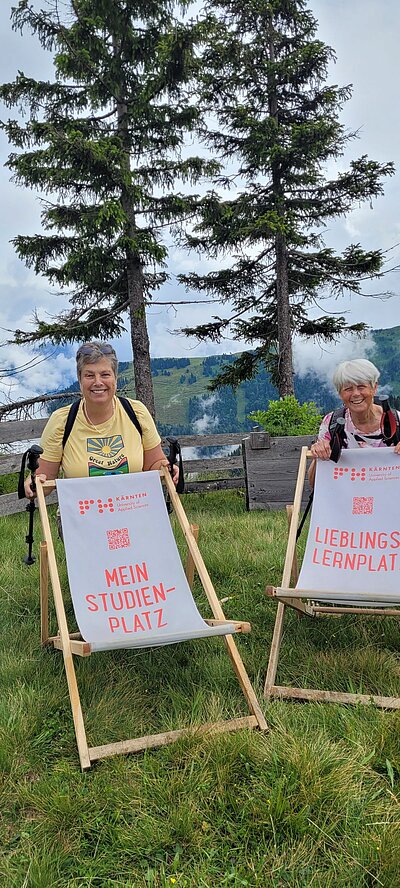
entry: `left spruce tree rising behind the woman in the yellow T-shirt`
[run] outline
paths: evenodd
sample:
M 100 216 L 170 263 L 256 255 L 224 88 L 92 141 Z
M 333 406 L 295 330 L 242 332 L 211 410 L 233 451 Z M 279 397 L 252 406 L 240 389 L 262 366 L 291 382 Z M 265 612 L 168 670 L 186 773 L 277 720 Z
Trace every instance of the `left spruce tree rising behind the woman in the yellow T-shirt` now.
M 44 233 L 16 236 L 16 251 L 69 300 L 16 341 L 113 337 L 128 315 L 136 396 L 153 415 L 146 304 L 167 277 L 163 232 L 193 205 L 177 182 L 215 170 L 181 151 L 198 117 L 188 99 L 198 26 L 175 8 L 176 0 L 48 0 L 35 11 L 20 0 L 13 28 L 54 53 L 55 79 L 20 72 L 0 87 L 8 107 L 28 111 L 26 122 L 3 123 L 17 149 L 14 179 L 51 196 L 42 200 Z

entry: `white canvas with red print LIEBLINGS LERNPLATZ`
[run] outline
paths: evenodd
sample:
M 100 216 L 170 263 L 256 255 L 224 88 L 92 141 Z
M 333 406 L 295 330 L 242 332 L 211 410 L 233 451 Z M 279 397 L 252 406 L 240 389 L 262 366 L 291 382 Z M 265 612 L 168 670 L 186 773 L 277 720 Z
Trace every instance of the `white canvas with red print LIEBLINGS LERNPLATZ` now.
M 400 457 L 391 448 L 343 450 L 338 464 L 318 460 L 296 587 L 336 604 L 399 604 L 399 503 Z

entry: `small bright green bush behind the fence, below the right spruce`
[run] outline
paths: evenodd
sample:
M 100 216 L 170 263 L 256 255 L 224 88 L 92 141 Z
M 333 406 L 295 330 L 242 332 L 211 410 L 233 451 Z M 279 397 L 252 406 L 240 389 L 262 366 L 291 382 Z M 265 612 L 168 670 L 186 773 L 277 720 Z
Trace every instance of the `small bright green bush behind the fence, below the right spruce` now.
M 249 419 L 262 426 L 270 435 L 314 435 L 322 420 L 314 401 L 299 404 L 294 395 L 279 401 L 270 401 L 268 410 L 255 410 Z

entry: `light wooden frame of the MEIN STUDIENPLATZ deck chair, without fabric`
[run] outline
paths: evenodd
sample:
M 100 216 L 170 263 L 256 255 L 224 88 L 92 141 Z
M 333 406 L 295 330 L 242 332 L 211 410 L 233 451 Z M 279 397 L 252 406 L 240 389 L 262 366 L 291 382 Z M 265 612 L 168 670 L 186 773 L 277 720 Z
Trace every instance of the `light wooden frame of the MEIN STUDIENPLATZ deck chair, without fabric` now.
M 160 469 L 160 476 L 166 485 L 170 500 L 177 516 L 179 524 L 188 546 L 188 559 L 186 564 L 186 576 L 189 585 L 193 580 L 194 570 L 200 577 L 204 592 L 209 601 L 213 619 L 206 620 L 209 625 L 216 626 L 226 623 L 224 612 L 218 600 L 210 576 L 200 554 L 196 541 L 196 528 L 189 524 L 184 508 L 176 493 L 174 484 L 171 480 L 169 472 Z M 57 568 L 56 556 L 54 551 L 53 539 L 50 529 L 49 516 L 47 513 L 45 491 L 54 490 L 55 481 L 46 481 L 41 484 L 37 483 L 37 498 L 44 535 L 44 542 L 40 545 L 40 608 L 41 608 L 41 641 L 42 644 L 51 644 L 57 650 L 61 650 L 64 657 L 64 666 L 68 683 L 69 697 L 71 701 L 72 717 L 75 727 L 75 735 L 78 746 L 79 759 L 82 770 L 88 770 L 93 762 L 107 758 L 118 753 L 139 752 L 152 747 L 165 746 L 173 743 L 179 737 L 185 734 L 193 733 L 222 733 L 225 731 L 236 731 L 243 728 L 255 728 L 260 730 L 267 729 L 267 723 L 264 718 L 261 707 L 258 703 L 255 691 L 251 685 L 249 676 L 247 675 L 243 661 L 239 651 L 233 640 L 232 635 L 223 636 L 229 657 L 231 659 L 233 669 L 236 673 L 239 685 L 246 699 L 251 715 L 230 719 L 227 721 L 216 722 L 213 724 L 202 724 L 195 728 L 182 728 L 174 731 L 167 731 L 161 734 L 150 734 L 143 737 L 136 737 L 129 740 L 121 740 L 115 743 L 105 744 L 103 746 L 89 746 L 86 737 L 82 706 L 79 696 L 76 672 L 73 662 L 73 655 L 88 656 L 91 653 L 90 645 L 82 640 L 79 633 L 70 633 L 67 625 L 67 618 L 64 607 L 63 594 L 60 584 L 60 578 Z M 55 611 L 58 621 L 58 634 L 49 636 L 48 622 L 48 586 L 49 577 L 54 597 Z M 246 622 L 238 622 L 229 620 L 233 623 L 235 631 L 248 632 L 250 624 Z

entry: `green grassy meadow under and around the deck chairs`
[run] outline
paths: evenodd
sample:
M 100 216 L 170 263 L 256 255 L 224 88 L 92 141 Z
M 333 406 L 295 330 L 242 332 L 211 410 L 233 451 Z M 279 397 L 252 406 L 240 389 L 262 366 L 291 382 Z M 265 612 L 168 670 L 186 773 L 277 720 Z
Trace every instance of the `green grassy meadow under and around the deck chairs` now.
M 252 623 L 238 646 L 262 700 L 275 616 L 264 587 L 281 577 L 286 518 L 247 513 L 240 491 L 184 505 L 226 615 Z M 26 519 L 0 520 L 1 886 L 400 886 L 396 712 L 263 701 L 267 733 L 194 732 L 82 774 L 62 656 L 39 643 Z M 400 694 L 398 624 L 289 613 L 281 663 L 282 683 Z M 76 668 L 90 743 L 247 715 L 221 639 Z

